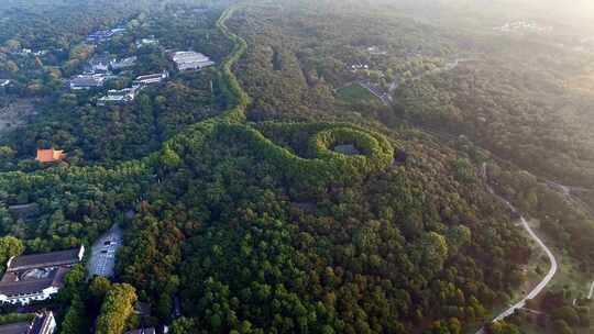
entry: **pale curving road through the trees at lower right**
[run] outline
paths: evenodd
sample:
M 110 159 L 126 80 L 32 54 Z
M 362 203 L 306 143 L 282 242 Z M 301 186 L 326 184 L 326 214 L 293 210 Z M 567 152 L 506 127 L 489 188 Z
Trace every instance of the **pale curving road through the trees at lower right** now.
M 486 176 L 486 164 L 483 164 L 483 176 Z M 512 203 L 509 203 L 509 201 L 507 201 L 506 199 L 497 194 L 495 190 L 493 190 L 493 188 L 491 188 L 491 186 L 488 185 L 487 185 L 487 190 L 493 196 L 502 200 L 514 213 L 519 213 L 518 210 Z M 514 314 L 516 310 L 522 309 L 526 305 L 526 301 L 534 299 L 538 294 L 540 294 L 540 292 L 542 292 L 542 290 L 544 290 L 544 288 L 552 280 L 552 278 L 554 277 L 559 268 L 557 259 L 554 258 L 554 255 L 552 254 L 551 249 L 549 249 L 549 247 L 542 242 L 542 240 L 538 237 L 538 235 L 535 233 L 532 227 L 530 227 L 530 225 L 528 224 L 528 221 L 526 221 L 524 215 L 520 215 L 520 223 L 522 227 L 526 230 L 526 232 L 528 232 L 530 237 L 540 246 L 542 250 L 544 250 L 544 253 L 547 254 L 547 257 L 549 258 L 551 267 L 549 268 L 549 271 L 542 278 L 542 280 L 528 294 L 526 294 L 526 297 L 524 297 L 521 300 L 519 300 L 518 302 L 516 302 L 515 304 L 510 305 L 508 309 L 499 313 L 497 316 L 495 316 L 495 319 L 493 319 L 493 322 L 502 321 L 505 318 Z M 593 283 L 593 287 L 594 287 L 594 283 Z M 476 332 L 476 334 L 483 334 L 483 333 L 484 333 L 484 329 L 481 329 L 479 330 L 479 332 Z

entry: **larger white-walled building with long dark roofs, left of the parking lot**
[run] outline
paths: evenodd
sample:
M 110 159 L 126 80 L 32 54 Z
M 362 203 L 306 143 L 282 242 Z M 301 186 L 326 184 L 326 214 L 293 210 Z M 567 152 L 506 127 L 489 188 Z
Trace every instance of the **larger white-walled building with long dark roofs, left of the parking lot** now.
M 25 305 L 46 300 L 64 285 L 72 267 L 82 260 L 85 247 L 11 257 L 0 280 L 0 302 Z

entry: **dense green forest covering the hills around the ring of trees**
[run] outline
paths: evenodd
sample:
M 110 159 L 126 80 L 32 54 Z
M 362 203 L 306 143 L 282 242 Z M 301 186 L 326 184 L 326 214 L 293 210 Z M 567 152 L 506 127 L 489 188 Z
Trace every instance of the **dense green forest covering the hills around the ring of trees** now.
M 0 10 L 0 78 L 14 82 L 1 97 L 40 110 L 0 140 L 0 260 L 124 230 L 112 281 L 77 266 L 48 302 L 61 333 L 474 332 L 531 283 L 539 258 L 488 187 L 591 272 L 592 216 L 542 183 L 592 185 L 590 96 L 566 85 L 578 74 L 556 70 L 562 60 L 518 73 L 522 55 L 494 60 L 483 36 L 354 1 L 129 2 Z M 85 41 L 114 26 L 125 33 Z M 158 45 L 139 47 L 146 37 Z M 170 49 L 217 66 L 178 71 Z M 65 88 L 102 54 L 138 64 L 103 88 Z M 588 62 L 563 55 L 575 71 Z M 132 103 L 97 105 L 162 70 Z M 348 85 L 371 98 L 341 98 Z M 68 156 L 42 165 L 40 147 Z M 18 204 L 37 210 L 22 218 Z M 539 329 L 590 326 L 587 300 L 570 294 L 530 304 L 551 314 Z M 520 333 L 522 316 L 485 330 Z

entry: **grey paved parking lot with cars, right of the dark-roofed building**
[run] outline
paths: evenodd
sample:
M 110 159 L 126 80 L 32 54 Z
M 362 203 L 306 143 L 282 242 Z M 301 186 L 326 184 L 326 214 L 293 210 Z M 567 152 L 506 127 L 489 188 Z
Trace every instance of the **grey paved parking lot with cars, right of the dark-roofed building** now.
M 91 247 L 87 269 L 89 277 L 112 277 L 116 267 L 116 253 L 122 245 L 123 231 L 118 224 L 103 233 Z

